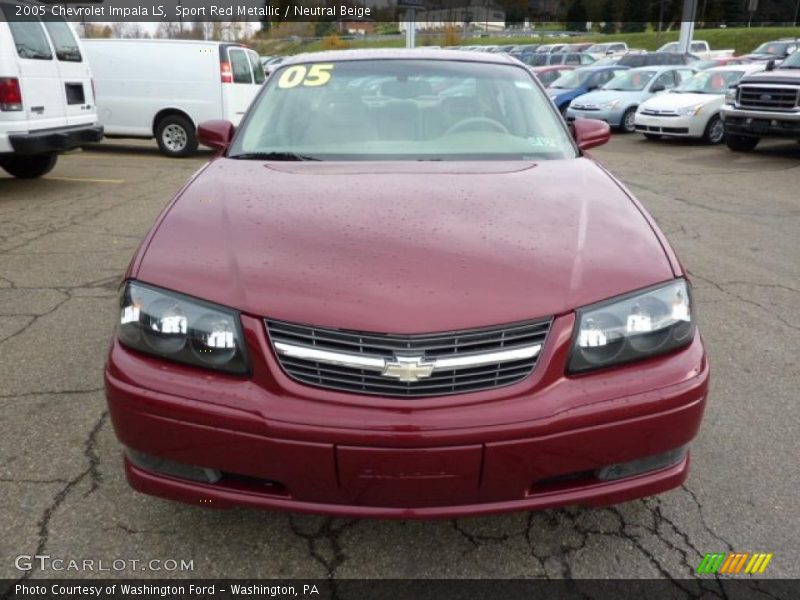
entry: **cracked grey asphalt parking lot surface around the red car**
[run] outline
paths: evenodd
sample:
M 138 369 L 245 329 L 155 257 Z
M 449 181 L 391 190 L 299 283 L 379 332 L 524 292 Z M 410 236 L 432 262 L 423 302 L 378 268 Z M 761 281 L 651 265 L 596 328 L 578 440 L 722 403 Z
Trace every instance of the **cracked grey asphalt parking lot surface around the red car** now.
M 706 552 L 772 552 L 798 578 L 800 146 L 751 155 L 615 136 L 596 156 L 656 217 L 691 272 L 712 393 L 685 486 L 606 508 L 442 522 L 214 511 L 130 490 L 102 367 L 127 263 L 207 155 L 151 143 L 64 156 L 39 181 L 0 175 L 0 578 L 18 555 L 184 559 L 176 577 L 669 578 Z

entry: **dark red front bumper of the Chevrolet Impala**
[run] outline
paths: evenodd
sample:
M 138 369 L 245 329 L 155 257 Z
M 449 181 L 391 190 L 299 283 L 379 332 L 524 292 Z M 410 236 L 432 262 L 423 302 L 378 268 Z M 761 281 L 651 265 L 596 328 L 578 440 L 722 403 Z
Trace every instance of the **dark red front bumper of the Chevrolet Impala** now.
M 259 322 L 243 322 L 249 341 L 266 350 Z M 106 395 L 126 447 L 221 473 L 201 483 L 126 458 L 130 484 L 200 506 L 444 518 L 614 504 L 680 485 L 687 455 L 624 479 L 596 473 L 695 437 L 708 391 L 699 335 L 670 356 L 567 378 L 573 323 L 556 320 L 529 380 L 460 397 L 338 404 L 346 395 L 292 383 L 268 352 L 262 365 L 254 358 L 251 380 L 241 380 L 165 368 L 116 342 Z M 256 385 L 261 374 L 273 378 L 270 389 Z

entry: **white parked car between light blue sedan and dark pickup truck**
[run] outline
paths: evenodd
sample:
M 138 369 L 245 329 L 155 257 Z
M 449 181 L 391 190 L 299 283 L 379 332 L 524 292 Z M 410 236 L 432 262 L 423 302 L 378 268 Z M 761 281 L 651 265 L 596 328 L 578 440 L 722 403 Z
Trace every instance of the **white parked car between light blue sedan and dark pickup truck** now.
M 720 110 L 726 93 L 743 76 L 763 69 L 763 65 L 754 64 L 700 71 L 673 93 L 642 103 L 635 117 L 636 131 L 651 140 L 662 136 L 690 137 L 719 144 L 725 139 Z

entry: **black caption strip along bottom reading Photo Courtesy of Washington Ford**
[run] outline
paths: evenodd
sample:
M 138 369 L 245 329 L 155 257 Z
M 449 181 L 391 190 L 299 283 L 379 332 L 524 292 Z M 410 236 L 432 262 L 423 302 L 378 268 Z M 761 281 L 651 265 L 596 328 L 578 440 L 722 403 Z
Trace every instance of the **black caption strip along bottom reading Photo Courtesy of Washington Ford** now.
M 800 598 L 797 579 L 253 579 L 87 580 L 0 582 L 8 600 L 68 599 L 279 599 L 290 600 L 606 600 Z

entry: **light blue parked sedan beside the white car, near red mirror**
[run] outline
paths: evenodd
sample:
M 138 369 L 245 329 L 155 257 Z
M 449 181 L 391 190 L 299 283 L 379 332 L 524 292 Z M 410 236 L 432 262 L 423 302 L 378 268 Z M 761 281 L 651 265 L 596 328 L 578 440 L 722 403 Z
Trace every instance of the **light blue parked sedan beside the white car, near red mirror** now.
M 675 89 L 692 75 L 693 69 L 675 66 L 622 71 L 599 90 L 574 100 L 567 109 L 567 120 L 600 119 L 625 133 L 633 133 L 636 109 L 642 102 Z

